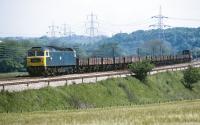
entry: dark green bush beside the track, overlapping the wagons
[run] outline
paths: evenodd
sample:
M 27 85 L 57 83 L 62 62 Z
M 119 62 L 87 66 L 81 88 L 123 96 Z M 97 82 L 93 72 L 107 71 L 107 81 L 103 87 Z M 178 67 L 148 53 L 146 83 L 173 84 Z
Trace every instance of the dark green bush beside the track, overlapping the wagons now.
M 135 62 L 128 65 L 128 68 L 132 73 L 135 73 L 135 77 L 140 81 L 145 81 L 147 73 L 150 72 L 154 67 L 154 64 L 152 64 L 149 60 L 143 60 L 141 62 Z

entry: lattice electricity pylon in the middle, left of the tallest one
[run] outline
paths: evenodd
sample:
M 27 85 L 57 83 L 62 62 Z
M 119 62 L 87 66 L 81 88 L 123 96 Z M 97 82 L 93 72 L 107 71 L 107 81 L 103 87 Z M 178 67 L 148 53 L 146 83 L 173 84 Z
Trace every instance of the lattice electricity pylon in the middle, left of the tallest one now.
M 87 24 L 86 24 L 86 33 L 89 32 L 90 38 L 94 38 L 94 36 L 98 32 L 99 23 L 97 22 L 97 15 L 91 13 L 87 16 Z

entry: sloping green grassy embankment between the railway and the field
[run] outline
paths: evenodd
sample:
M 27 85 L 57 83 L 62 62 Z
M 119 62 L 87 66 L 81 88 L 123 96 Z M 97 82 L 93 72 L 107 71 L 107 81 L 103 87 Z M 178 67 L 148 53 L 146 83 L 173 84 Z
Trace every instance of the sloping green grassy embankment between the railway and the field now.
M 140 105 L 200 98 L 200 82 L 192 90 L 182 84 L 183 74 L 163 72 L 142 83 L 134 77 L 110 78 L 96 84 L 45 87 L 22 92 L 1 92 L 0 112 L 29 112 Z

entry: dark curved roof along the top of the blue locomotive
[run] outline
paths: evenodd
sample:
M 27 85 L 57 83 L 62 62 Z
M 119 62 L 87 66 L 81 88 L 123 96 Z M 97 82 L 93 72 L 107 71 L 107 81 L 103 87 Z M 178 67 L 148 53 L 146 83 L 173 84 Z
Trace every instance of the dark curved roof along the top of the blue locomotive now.
M 43 47 L 32 47 L 32 49 L 42 49 L 50 51 L 74 51 L 72 48 L 61 48 L 56 46 L 43 46 Z

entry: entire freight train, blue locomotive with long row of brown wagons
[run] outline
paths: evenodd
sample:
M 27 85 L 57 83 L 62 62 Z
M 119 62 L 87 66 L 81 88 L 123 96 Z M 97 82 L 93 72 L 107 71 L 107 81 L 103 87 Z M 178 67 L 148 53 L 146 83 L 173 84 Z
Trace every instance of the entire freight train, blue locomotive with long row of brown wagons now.
M 150 60 L 156 66 L 190 62 L 189 50 L 170 56 L 127 56 L 78 58 L 72 48 L 55 46 L 32 47 L 27 53 L 27 71 L 31 76 L 86 73 L 127 69 L 128 64 Z

